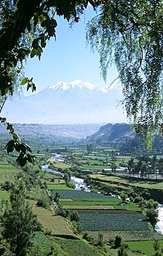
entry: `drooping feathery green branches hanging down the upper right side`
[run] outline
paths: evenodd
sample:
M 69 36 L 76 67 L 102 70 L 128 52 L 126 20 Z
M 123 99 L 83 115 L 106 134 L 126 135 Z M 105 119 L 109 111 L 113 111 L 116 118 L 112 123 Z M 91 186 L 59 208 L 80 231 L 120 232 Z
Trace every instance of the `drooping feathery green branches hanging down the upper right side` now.
M 87 24 L 87 42 L 100 54 L 102 76 L 106 80 L 107 68 L 116 64 L 122 103 L 144 143 L 162 129 L 162 17 L 162 1 L 104 0 Z

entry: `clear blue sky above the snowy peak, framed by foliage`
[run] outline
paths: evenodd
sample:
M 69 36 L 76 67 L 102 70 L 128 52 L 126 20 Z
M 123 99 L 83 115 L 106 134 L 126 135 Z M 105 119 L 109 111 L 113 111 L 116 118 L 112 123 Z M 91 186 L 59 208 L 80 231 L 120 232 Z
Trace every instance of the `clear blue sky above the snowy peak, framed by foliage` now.
M 98 53 L 91 53 L 89 46 L 86 48 L 85 26 L 94 15 L 96 13 L 89 6 L 85 15 L 80 17 L 80 21 L 74 24 L 73 28 L 69 28 L 68 22 L 63 17 L 57 17 L 56 41 L 51 39 L 47 43 L 41 61 L 34 57 L 28 60 L 25 67 L 25 76 L 34 77 L 36 92 L 61 80 L 72 82 L 76 79 L 91 82 L 102 88 L 118 76 L 113 66 L 108 72 L 105 84 L 100 78 Z

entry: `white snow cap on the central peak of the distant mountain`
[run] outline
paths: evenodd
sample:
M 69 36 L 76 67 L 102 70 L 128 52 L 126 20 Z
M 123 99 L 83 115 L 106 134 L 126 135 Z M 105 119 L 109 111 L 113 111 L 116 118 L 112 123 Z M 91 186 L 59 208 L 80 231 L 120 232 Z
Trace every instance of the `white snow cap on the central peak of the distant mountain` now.
M 57 82 L 56 84 L 50 86 L 50 89 L 63 89 L 63 91 L 68 90 L 68 89 L 74 89 L 74 88 L 78 88 L 78 89 L 84 89 L 84 88 L 93 90 L 93 89 L 98 89 L 96 86 L 94 86 L 94 84 L 91 84 L 90 82 L 82 82 L 81 80 L 74 80 L 72 82 Z

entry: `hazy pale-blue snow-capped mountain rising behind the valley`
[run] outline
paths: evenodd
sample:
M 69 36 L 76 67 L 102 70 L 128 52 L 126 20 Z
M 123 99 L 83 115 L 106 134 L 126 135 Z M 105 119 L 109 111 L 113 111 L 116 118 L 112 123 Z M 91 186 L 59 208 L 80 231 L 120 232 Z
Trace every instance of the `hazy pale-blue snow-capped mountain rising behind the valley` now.
M 120 86 L 98 89 L 89 82 L 57 82 L 28 97 L 8 100 L 2 116 L 9 122 L 84 124 L 126 122 Z

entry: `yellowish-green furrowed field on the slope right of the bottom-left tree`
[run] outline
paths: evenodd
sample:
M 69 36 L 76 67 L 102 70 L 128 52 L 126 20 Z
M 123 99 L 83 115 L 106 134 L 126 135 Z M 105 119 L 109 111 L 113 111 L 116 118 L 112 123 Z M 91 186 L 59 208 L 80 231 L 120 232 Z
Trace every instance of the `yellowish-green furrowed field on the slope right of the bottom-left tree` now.
M 44 228 L 52 231 L 52 235 L 74 235 L 74 232 L 68 228 L 65 219 L 54 215 L 54 212 L 38 207 L 33 204 L 34 212 Z

